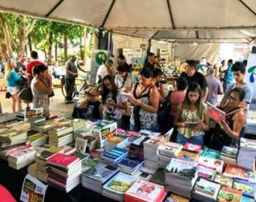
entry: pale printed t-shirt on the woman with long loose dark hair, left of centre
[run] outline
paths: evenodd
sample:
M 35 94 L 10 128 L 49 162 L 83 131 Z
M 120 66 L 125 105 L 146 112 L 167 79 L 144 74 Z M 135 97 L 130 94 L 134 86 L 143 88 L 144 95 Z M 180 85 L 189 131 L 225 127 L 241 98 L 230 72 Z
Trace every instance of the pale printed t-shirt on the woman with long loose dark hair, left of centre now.
M 112 92 L 110 92 L 107 95 L 106 100 L 108 100 L 108 98 L 112 98 Z M 126 102 L 126 99 L 121 96 L 121 91 L 118 90 L 118 96 L 116 98 L 116 103 L 121 104 L 123 102 Z M 106 104 L 104 109 L 103 109 L 103 118 L 107 119 L 108 117 L 114 118 L 115 120 L 120 120 L 121 117 L 122 117 L 121 108 L 117 108 L 117 107 L 114 107 L 114 106 L 109 106 L 109 105 Z

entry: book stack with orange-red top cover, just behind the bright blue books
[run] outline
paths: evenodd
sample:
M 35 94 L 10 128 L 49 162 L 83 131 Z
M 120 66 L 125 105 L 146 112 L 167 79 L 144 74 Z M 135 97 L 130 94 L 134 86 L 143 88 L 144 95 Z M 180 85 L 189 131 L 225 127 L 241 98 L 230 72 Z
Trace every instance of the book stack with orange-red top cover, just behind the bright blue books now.
M 125 148 L 129 146 L 129 138 L 124 135 L 114 135 L 112 137 L 106 138 L 105 149 L 106 151 L 112 150 L 115 147 Z

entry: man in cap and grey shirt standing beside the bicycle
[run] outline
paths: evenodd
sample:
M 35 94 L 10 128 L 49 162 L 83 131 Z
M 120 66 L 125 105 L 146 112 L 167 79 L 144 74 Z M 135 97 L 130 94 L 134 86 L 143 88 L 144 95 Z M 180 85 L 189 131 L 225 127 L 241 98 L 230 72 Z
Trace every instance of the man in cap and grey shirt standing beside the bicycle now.
M 78 76 L 78 64 L 76 62 L 76 54 L 71 55 L 71 60 L 67 61 L 66 66 L 66 92 L 67 97 L 66 102 L 72 102 L 73 89 L 76 82 L 76 77 Z

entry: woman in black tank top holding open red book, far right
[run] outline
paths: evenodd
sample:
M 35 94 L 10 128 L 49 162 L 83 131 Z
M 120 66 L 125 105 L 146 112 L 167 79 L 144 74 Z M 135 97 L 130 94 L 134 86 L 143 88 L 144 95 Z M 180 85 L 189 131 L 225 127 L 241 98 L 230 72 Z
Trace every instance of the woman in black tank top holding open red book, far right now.
M 246 92 L 242 88 L 234 88 L 228 97 L 228 103 L 220 108 L 226 113 L 225 121 L 216 123 L 211 147 L 222 150 L 223 146 L 238 147 L 239 137 L 244 133 L 246 112 L 243 109 L 243 99 Z

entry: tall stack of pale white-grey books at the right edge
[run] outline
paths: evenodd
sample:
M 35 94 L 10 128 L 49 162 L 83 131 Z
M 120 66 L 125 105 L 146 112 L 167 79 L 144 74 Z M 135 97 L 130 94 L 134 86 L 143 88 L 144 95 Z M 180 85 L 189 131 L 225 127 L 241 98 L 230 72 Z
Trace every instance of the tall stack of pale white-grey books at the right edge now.
M 256 157 L 256 140 L 240 138 L 240 150 L 237 156 L 237 165 L 254 170 Z

